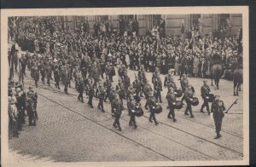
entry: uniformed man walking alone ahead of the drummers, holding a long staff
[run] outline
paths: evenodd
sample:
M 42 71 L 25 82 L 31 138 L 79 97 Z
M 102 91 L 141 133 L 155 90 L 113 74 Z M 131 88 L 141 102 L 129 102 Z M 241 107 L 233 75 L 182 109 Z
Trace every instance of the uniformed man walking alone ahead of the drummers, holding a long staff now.
M 221 124 L 222 124 L 222 119 L 224 118 L 225 110 L 226 109 L 224 107 L 224 101 L 219 100 L 219 96 L 215 95 L 215 100 L 212 101 L 212 107 L 211 107 L 211 112 L 212 112 L 216 133 L 217 133 L 214 139 L 218 139 L 219 137 L 221 137 L 219 132 L 221 131 Z

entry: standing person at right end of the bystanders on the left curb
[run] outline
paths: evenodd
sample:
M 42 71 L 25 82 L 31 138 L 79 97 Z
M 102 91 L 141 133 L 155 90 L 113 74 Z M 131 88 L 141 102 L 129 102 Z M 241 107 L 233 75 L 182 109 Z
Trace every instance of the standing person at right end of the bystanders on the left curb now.
M 28 115 L 28 125 L 36 125 L 36 118 L 35 118 L 35 102 L 33 100 L 33 93 L 32 91 L 27 92 L 27 98 L 26 98 L 26 112 Z

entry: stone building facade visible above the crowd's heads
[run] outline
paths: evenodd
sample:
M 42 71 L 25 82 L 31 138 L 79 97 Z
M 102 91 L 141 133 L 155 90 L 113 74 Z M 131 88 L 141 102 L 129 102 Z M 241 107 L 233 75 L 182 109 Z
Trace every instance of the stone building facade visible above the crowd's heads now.
M 108 20 L 114 30 L 119 31 L 119 20 L 135 19 L 138 21 L 138 35 L 146 35 L 154 25 L 158 24 L 160 19 L 165 20 L 166 35 L 181 35 L 182 27 L 184 30 L 191 29 L 192 26 L 198 24 L 201 19 L 203 30 L 202 34 L 209 34 L 210 32 L 217 31 L 219 26 L 227 24 L 230 28 L 230 35 L 236 35 L 242 27 L 241 14 L 137 14 L 137 15 L 87 15 L 87 16 L 57 16 L 64 28 L 69 28 L 71 31 L 75 30 L 79 24 L 84 20 L 88 20 L 90 32 L 94 32 L 94 25 L 97 22 Z

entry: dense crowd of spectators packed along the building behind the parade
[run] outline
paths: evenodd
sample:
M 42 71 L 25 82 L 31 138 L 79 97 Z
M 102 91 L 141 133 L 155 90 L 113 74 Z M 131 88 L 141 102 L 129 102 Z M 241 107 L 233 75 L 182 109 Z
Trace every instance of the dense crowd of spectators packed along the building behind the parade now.
M 161 25 L 165 24 L 163 21 L 160 20 Z M 57 60 L 89 55 L 92 60 L 105 59 L 113 65 L 122 61 L 133 70 L 144 65 L 148 72 L 159 67 L 160 72 L 166 74 L 173 68 L 176 75 L 180 72 L 179 67 L 185 66 L 186 72 L 193 77 L 209 75 L 211 56 L 217 53 L 222 57 L 224 69 L 229 70 L 242 54 L 241 29 L 232 37 L 219 35 L 219 31 L 202 36 L 201 26 L 189 30 L 182 26 L 182 35 L 165 35 L 160 26 L 161 35 L 155 37 L 150 33 L 138 36 L 138 22 L 134 19 L 120 20 L 119 32 L 113 31 L 108 20 L 96 22 L 94 31 L 90 32 L 86 20 L 75 31 L 68 31 L 52 17 L 17 17 L 9 18 L 9 38 L 23 50 Z

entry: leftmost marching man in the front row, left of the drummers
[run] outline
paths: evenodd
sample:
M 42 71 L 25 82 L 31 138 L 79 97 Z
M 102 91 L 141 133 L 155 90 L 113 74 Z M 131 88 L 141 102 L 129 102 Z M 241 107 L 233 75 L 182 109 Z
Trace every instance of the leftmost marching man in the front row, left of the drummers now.
M 113 127 L 114 128 L 119 128 L 119 131 L 121 131 L 120 123 L 119 123 L 119 118 L 121 117 L 121 114 L 124 110 L 123 102 L 119 99 L 119 95 L 115 94 L 114 99 L 111 103 L 113 115 L 115 117 L 114 122 L 113 122 Z

